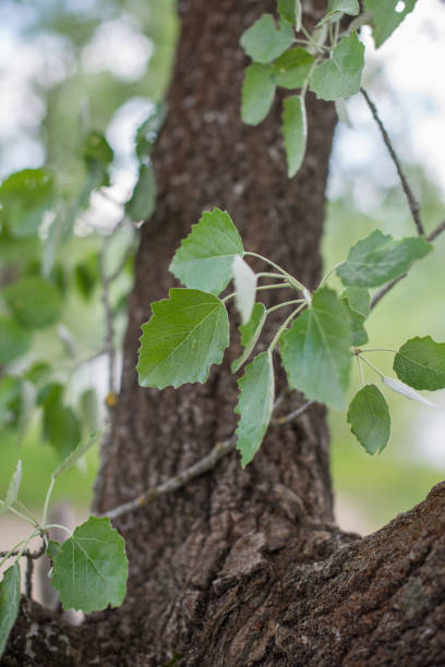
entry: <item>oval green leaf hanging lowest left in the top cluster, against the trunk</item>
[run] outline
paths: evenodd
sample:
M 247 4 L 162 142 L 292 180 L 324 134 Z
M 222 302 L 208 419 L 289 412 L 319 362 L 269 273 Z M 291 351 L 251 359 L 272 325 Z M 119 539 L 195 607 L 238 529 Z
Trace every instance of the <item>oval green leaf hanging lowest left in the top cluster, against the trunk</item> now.
M 275 95 L 272 65 L 253 63 L 245 70 L 241 93 L 241 119 L 257 125 L 269 112 Z

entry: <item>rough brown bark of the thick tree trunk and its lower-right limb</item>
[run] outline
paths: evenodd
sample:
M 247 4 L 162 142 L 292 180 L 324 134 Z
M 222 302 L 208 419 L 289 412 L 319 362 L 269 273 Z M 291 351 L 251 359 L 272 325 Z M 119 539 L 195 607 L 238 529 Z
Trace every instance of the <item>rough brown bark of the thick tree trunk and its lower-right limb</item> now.
M 320 277 L 333 107 L 308 96 L 308 155 L 292 181 L 286 177 L 279 102 L 258 128 L 240 120 L 245 59 L 239 38 L 274 5 L 180 2 L 169 116 L 154 158 L 158 204 L 137 254 L 98 512 L 168 480 L 236 428 L 236 378 L 229 373 L 239 352 L 234 329 L 232 349 L 203 386 L 142 389 L 135 374 L 141 324 L 151 316 L 151 302 L 175 286 L 169 262 L 201 211 L 227 209 L 248 250 L 269 256 L 309 288 Z M 322 1 L 305 5 L 308 23 L 325 9 Z M 277 323 L 270 322 L 268 337 Z M 279 393 L 285 381 L 278 359 L 276 366 Z M 288 397 L 280 411 L 301 401 Z M 342 533 L 333 517 L 320 407 L 272 426 L 245 470 L 232 452 L 116 526 L 130 560 L 123 606 L 73 628 L 24 601 L 2 665 L 445 664 L 445 486 L 373 535 Z

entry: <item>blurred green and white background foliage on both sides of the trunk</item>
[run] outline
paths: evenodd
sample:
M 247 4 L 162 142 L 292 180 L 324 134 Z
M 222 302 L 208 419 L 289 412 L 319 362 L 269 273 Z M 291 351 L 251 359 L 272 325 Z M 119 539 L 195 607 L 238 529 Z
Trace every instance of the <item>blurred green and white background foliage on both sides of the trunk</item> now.
M 41 506 L 60 458 L 100 427 L 106 404 L 112 409 L 119 391 L 139 223 L 149 218 L 155 199 L 149 155 L 165 116 L 178 35 L 175 5 L 0 5 L 0 492 L 21 458 L 22 500 L 32 507 Z M 425 174 L 418 154 L 407 153 L 405 101 L 388 93 L 394 82 L 382 62 L 371 53 L 366 85 L 384 101 L 432 229 L 444 216 L 443 190 Z M 360 105 L 350 100 L 354 128 L 342 125 L 336 135 L 326 268 L 376 227 L 394 237 L 413 233 L 394 167 Z M 397 349 L 416 335 L 445 340 L 444 241 L 377 306 L 368 327 L 373 348 Z M 388 355 L 381 353 L 375 363 L 392 374 Z M 357 375 L 351 393 L 354 387 Z M 387 398 L 393 436 L 374 458 L 350 435 L 344 413 L 329 414 L 341 520 L 364 532 L 421 500 L 444 473 L 443 413 Z M 96 472 L 97 452 L 67 474 L 55 497 L 85 508 Z

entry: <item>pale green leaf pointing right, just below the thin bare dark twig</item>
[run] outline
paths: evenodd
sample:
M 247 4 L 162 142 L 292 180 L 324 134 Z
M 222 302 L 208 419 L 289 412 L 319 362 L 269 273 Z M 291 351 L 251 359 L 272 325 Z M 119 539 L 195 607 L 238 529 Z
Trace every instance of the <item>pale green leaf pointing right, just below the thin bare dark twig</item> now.
M 421 237 L 395 241 L 376 229 L 351 247 L 337 275 L 348 287 L 378 287 L 405 274 L 416 259 L 432 250 L 431 243 Z

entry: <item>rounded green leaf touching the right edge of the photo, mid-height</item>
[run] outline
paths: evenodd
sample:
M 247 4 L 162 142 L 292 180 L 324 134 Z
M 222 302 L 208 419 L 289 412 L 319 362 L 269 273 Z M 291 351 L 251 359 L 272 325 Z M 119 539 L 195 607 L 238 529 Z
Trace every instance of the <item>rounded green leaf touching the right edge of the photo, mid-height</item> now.
M 394 371 L 414 389 L 436 391 L 445 388 L 445 342 L 431 338 L 411 338 L 394 357 Z

